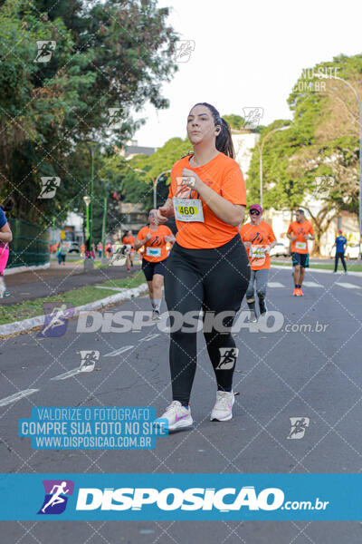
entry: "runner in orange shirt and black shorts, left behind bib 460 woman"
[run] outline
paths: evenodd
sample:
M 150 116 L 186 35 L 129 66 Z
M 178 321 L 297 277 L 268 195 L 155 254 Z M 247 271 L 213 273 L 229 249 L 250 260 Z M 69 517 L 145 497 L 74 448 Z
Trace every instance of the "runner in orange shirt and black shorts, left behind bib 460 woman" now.
M 166 225 L 157 225 L 155 209 L 148 214 L 148 225 L 142 227 L 137 235 L 134 247 L 136 251 L 145 247 L 142 258 L 142 270 L 148 282 L 148 295 L 152 305 L 152 319 L 159 319 L 162 287 L 164 285 L 165 263 L 167 260 L 167 242 L 175 242 L 172 231 Z

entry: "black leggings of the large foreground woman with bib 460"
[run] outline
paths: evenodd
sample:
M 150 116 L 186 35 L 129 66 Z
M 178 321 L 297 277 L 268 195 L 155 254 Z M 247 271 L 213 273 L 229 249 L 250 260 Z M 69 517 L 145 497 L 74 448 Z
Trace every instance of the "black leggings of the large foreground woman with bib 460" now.
M 220 391 L 232 391 L 236 352 L 231 328 L 249 279 L 249 260 L 239 234 L 219 248 L 187 249 L 176 243 L 167 258 L 168 312 L 185 316 L 187 312 L 204 310 L 205 342 Z M 212 320 L 220 312 L 227 312 L 217 320 L 224 325 L 222 331 Z M 193 332 L 183 331 L 181 326 L 175 328 L 169 349 L 173 400 L 187 405 L 196 370 L 197 332 L 195 327 Z

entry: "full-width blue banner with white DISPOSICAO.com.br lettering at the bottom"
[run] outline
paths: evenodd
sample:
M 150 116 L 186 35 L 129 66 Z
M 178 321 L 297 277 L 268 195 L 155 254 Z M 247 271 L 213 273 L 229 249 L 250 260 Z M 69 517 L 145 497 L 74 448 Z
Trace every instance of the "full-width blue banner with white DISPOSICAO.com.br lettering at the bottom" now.
M 362 474 L 0 474 L 1 520 L 361 520 Z

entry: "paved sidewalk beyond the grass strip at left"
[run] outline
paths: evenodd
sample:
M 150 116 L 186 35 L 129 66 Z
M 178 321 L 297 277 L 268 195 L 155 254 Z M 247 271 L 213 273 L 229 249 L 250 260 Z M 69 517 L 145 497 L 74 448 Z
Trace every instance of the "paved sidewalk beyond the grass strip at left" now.
M 58 261 L 52 260 L 49 268 L 6 276 L 6 288 L 11 295 L 0 298 L 0 305 L 11 306 L 22 303 L 24 300 L 59 295 L 77 287 L 128 277 L 139 269 L 140 265 L 135 265 L 131 267 L 130 272 L 126 267 L 102 267 L 84 272 L 82 262 L 75 263 L 70 260 L 65 263 L 65 266 L 59 266 Z

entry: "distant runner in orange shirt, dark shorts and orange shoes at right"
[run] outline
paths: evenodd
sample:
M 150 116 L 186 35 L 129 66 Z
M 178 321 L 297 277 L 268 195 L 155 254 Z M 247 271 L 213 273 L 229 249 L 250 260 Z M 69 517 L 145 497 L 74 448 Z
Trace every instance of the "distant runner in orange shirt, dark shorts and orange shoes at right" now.
M 308 240 L 314 240 L 314 230 L 310 221 L 305 219 L 304 211 L 297 209 L 296 220 L 291 222 L 287 237 L 291 243 L 291 259 L 294 267 L 293 296 L 303 296 L 301 286 L 304 280 L 305 269 L 310 267 Z

